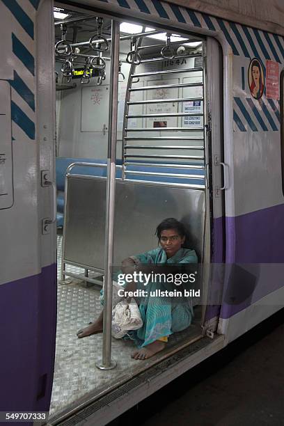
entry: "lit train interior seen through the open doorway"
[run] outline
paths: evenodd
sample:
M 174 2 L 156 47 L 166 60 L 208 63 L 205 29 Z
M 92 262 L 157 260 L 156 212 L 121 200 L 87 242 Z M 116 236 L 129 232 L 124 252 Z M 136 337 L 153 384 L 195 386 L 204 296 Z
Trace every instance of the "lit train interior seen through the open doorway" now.
M 102 356 L 101 333 L 76 336 L 102 310 L 111 17 L 56 11 L 65 17 L 55 19 L 58 324 L 52 417 L 201 338 L 203 315 L 200 298 L 191 299 L 191 325 L 171 334 L 166 349 L 147 361 L 132 358 L 131 340 L 113 338 L 112 370 L 95 365 Z M 184 223 L 187 247 L 204 261 L 204 43 L 192 34 L 120 23 L 115 265 L 156 248 L 156 227 L 168 217 Z

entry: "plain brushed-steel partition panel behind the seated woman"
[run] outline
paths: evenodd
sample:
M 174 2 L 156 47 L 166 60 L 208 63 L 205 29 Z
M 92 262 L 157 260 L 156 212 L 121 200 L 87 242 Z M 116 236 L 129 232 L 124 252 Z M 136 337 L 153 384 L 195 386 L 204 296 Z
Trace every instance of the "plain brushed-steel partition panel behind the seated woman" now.
M 63 262 L 104 269 L 106 184 L 104 178 L 68 176 Z M 189 248 L 202 260 L 205 193 L 159 184 L 116 182 L 114 264 L 157 247 L 155 229 L 168 217 L 189 230 Z

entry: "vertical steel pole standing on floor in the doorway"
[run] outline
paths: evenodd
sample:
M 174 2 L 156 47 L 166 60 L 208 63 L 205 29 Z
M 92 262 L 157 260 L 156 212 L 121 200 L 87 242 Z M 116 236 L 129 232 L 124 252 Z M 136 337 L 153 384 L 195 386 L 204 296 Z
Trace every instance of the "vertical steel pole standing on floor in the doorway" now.
M 116 195 L 116 133 L 118 113 L 118 66 L 119 66 L 119 23 L 111 21 L 111 87 L 109 93 L 109 145 L 107 155 L 107 203 L 106 203 L 106 239 L 104 256 L 104 328 L 102 342 L 101 370 L 116 367 L 111 361 L 111 310 L 113 265 L 113 225 L 114 202 Z

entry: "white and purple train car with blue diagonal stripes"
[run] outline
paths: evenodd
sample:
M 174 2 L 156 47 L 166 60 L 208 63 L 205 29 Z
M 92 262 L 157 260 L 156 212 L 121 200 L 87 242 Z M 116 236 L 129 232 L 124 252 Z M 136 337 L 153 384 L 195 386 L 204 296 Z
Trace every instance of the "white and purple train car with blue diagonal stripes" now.
M 283 308 L 284 9 L 188 3 L 0 1 L 1 422 L 105 425 Z M 109 267 L 166 217 L 201 295 L 136 360 Z

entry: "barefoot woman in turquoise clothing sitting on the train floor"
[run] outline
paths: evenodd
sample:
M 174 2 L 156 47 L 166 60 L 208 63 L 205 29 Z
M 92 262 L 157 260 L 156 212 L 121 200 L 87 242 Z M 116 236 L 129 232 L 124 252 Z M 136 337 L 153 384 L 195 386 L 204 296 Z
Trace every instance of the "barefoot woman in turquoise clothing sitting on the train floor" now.
M 122 271 L 132 273 L 139 265 L 171 265 L 180 263 L 197 263 L 194 250 L 182 248 L 186 232 L 182 223 L 176 219 L 165 219 L 157 226 L 156 235 L 160 247 L 140 255 L 131 256 L 123 260 Z M 135 359 L 147 359 L 164 349 L 168 336 L 177 331 L 187 329 L 194 316 L 191 299 L 188 303 L 167 301 L 159 297 L 152 297 L 150 292 L 157 288 L 166 290 L 165 283 L 149 283 L 148 296 L 139 305 L 143 326 L 141 329 L 129 332 L 139 349 L 132 354 Z M 164 288 L 163 288 L 164 287 Z M 143 283 L 125 285 L 125 291 L 143 288 Z M 84 338 L 95 333 L 102 333 L 102 313 L 95 322 L 85 329 L 79 330 L 78 338 Z

